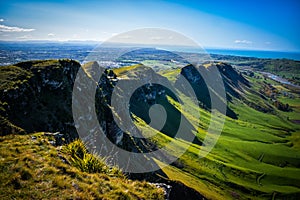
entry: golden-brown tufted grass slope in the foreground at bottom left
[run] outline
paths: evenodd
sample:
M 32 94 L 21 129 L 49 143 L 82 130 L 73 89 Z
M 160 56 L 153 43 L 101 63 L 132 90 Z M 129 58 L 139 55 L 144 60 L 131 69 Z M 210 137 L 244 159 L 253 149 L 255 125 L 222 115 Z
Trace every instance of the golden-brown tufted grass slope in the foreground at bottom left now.
M 84 162 L 75 159 L 72 147 L 55 148 L 51 137 L 36 133 L 0 138 L 0 199 L 163 199 L 161 189 L 131 181 L 91 154 L 84 153 L 89 158 Z M 98 172 L 91 170 L 95 164 Z

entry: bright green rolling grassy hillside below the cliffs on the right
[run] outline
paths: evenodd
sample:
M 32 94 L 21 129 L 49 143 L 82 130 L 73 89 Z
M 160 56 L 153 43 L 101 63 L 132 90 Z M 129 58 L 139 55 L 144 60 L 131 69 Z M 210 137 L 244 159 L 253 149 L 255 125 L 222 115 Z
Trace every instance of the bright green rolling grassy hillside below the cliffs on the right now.
M 177 72 L 168 70 L 160 74 L 172 81 Z M 262 80 L 249 80 L 253 88 L 260 87 Z M 184 96 L 180 98 L 188 101 Z M 163 171 L 170 179 L 180 180 L 211 199 L 296 199 L 300 196 L 300 125 L 288 121 L 287 116 L 299 119 L 299 96 L 295 99 L 280 97 L 280 100 L 289 102 L 293 112 L 276 110 L 275 114 L 262 113 L 235 100 L 230 107 L 239 114 L 239 119 L 226 118 L 222 135 L 206 158 L 199 159 L 199 149 L 202 147 L 193 144 L 179 159 L 180 164 L 174 164 L 177 167 L 167 166 Z M 176 104 L 175 101 L 172 103 Z M 191 102 L 188 104 L 191 109 L 183 114 L 194 122 L 193 112 L 199 112 L 199 109 Z M 209 114 L 203 110 L 200 113 L 203 116 L 202 128 L 198 129 L 197 136 L 204 138 Z M 137 120 L 137 124 L 144 131 L 154 131 L 141 121 Z M 153 140 L 164 146 L 171 140 L 166 138 L 157 133 Z M 178 145 L 184 146 L 186 143 L 178 140 Z M 176 155 L 175 149 L 172 152 Z

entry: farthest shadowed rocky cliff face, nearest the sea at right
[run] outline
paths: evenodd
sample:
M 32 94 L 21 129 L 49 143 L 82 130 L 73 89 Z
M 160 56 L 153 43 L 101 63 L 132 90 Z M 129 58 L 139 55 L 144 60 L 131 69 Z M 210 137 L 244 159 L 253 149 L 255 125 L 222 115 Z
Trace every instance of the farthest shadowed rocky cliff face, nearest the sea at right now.
M 213 66 L 213 67 L 211 67 Z M 212 69 L 214 68 L 214 69 Z M 221 78 L 219 80 L 215 79 L 214 70 L 218 70 Z M 247 80 L 240 76 L 230 65 L 225 63 L 220 64 L 210 64 L 206 66 L 195 67 L 193 65 L 188 65 L 181 70 L 181 75 L 186 78 L 186 80 L 192 86 L 199 104 L 201 107 L 210 110 L 212 107 L 211 100 L 215 100 L 215 105 L 217 107 L 223 107 L 224 99 L 216 94 L 212 88 L 223 88 L 226 92 L 226 101 L 231 101 L 232 97 L 239 97 L 240 90 L 242 90 L 242 85 L 248 87 Z M 177 88 L 186 94 L 186 88 L 182 84 L 182 77 L 179 77 L 176 80 Z M 213 84 L 214 87 L 211 87 Z M 187 94 L 188 95 L 188 94 Z M 213 97 L 211 96 L 213 95 Z M 226 106 L 226 115 L 237 119 L 237 114 Z M 225 113 L 224 113 L 225 114 Z

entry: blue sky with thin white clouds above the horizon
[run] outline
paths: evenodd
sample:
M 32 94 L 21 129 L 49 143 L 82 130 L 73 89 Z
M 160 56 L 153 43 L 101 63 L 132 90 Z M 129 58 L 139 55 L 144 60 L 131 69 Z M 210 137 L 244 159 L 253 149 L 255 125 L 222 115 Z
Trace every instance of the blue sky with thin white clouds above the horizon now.
M 300 52 L 300 1 L 0 1 L 0 40 L 104 41 L 138 28 L 204 47 Z

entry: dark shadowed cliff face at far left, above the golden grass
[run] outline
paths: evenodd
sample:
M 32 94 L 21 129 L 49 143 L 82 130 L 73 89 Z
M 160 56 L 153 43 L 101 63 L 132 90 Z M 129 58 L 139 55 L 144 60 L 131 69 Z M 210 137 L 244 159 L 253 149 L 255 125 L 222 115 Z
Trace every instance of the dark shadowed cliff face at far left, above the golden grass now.
M 71 94 L 79 67 L 73 60 L 1 67 L 1 134 L 60 131 L 76 137 Z

